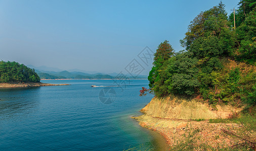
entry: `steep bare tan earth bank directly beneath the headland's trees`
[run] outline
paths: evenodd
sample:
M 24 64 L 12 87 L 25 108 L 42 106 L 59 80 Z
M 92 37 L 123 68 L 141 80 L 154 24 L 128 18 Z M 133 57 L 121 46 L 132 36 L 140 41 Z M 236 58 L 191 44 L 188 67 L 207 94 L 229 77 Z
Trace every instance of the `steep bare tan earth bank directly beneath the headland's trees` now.
M 195 100 L 179 100 L 177 98 L 158 99 L 153 98 L 141 112 L 148 116 L 167 119 L 219 119 L 227 118 L 234 112 L 240 112 L 242 108 L 231 105 L 216 105 L 216 110 L 206 103 Z

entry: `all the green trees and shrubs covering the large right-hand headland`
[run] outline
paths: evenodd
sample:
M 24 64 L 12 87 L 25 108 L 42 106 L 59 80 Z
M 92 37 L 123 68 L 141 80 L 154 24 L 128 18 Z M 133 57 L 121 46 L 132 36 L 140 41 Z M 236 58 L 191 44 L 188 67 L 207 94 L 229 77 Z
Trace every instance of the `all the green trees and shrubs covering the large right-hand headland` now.
M 157 97 L 256 104 L 256 2 L 241 0 L 239 5 L 236 29 L 233 14 L 228 17 L 221 2 L 191 22 L 181 40 L 186 50 L 173 53 L 168 41 L 158 46 L 148 77 Z

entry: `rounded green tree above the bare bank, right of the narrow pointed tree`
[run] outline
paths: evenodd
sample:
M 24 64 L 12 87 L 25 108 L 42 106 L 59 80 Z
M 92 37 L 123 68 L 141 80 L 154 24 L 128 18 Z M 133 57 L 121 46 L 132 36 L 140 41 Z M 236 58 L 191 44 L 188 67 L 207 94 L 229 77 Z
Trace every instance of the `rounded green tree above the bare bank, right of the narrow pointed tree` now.
M 199 86 L 197 79 L 197 58 L 192 58 L 189 52 L 181 52 L 168 60 L 166 68 L 169 94 L 193 95 Z

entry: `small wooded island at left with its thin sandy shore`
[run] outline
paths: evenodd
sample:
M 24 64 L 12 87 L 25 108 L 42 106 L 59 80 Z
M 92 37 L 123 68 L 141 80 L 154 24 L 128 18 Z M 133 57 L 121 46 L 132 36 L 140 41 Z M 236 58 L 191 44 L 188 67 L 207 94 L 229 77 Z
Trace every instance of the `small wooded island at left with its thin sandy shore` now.
M 34 69 L 15 61 L 0 61 L 0 88 L 63 86 L 68 84 L 45 84 Z

